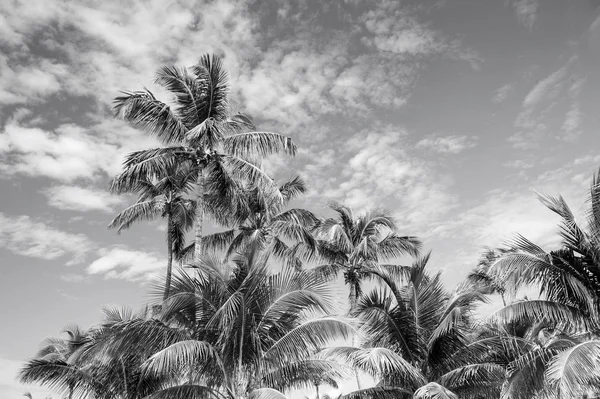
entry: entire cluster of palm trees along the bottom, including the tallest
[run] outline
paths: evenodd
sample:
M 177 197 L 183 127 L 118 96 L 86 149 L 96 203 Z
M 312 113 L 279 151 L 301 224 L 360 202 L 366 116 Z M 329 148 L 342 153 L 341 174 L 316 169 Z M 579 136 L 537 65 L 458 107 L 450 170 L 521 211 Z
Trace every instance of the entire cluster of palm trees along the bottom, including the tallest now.
M 233 110 L 219 57 L 163 67 L 156 83 L 170 102 L 147 89 L 115 99 L 163 146 L 127 156 L 110 190 L 137 200 L 109 225 L 164 220 L 155 300 L 47 339 L 22 382 L 69 399 L 320 399 L 350 382 L 344 399 L 600 394 L 600 177 L 585 225 L 540 197 L 561 218 L 559 248 L 517 236 L 449 290 L 389 212 L 290 208 L 304 181 L 277 184 L 261 161 L 296 147 Z M 221 231 L 205 234 L 206 220 Z M 539 298 L 516 299 L 523 289 Z M 479 316 L 494 295 L 504 307 Z

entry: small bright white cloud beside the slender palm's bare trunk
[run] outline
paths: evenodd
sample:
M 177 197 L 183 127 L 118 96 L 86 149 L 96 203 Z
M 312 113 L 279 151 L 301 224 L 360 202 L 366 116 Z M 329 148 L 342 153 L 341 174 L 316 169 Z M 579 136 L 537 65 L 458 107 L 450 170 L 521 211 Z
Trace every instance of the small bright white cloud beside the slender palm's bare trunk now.
M 106 279 L 148 281 L 160 275 L 167 265 L 160 255 L 126 248 L 103 249 L 99 254 L 101 257 L 88 266 L 87 272 Z

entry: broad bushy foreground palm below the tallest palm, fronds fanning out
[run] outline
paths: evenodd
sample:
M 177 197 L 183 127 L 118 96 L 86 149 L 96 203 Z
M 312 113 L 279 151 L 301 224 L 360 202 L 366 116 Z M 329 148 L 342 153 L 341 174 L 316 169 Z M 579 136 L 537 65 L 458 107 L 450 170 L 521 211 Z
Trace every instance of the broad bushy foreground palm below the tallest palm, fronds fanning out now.
M 347 368 L 318 355 L 353 332 L 328 316 L 328 285 L 306 272 L 270 274 L 267 260 L 256 249 L 233 266 L 203 258 L 195 277 L 173 276 L 159 313 L 104 329 L 87 350 L 88 362 L 136 358 L 141 365 L 129 379 L 152 387 L 143 392 L 149 398 L 284 398 L 288 388 L 346 377 Z

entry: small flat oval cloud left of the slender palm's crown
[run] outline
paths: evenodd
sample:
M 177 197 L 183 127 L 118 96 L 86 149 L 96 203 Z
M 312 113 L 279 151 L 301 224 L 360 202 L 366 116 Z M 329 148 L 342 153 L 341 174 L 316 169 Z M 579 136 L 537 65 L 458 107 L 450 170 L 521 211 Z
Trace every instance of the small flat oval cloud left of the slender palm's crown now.
M 48 203 L 62 210 L 86 212 L 102 211 L 111 213 L 123 199 L 111 195 L 107 190 L 79 186 L 53 186 L 44 190 Z

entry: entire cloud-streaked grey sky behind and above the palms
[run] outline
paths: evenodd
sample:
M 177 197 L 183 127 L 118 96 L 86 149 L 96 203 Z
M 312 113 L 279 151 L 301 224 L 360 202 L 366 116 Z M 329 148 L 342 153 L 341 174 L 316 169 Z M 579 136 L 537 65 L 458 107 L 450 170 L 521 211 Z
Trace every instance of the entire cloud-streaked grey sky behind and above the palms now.
M 545 248 L 600 167 L 598 0 L 0 0 L 0 398 L 63 326 L 133 308 L 166 262 L 161 221 L 107 229 L 106 187 L 158 143 L 112 117 L 162 65 L 224 57 L 231 98 L 294 140 L 297 205 L 383 207 L 448 287 L 519 232 Z

